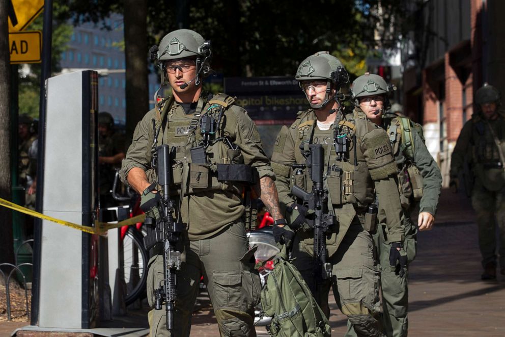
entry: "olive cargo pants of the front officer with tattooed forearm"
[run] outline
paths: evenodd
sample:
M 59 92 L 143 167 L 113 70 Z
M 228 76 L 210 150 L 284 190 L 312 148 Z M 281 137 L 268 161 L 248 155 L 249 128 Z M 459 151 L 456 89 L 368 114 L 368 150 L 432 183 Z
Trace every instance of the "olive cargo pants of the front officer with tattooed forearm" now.
M 185 246 L 181 270 L 177 272 L 173 336 L 189 336 L 191 315 L 203 275 L 222 336 L 256 336 L 254 307 L 260 300 L 261 282 L 248 250 L 243 223 L 235 223 L 219 234 Z M 153 290 L 163 280 L 163 256 L 149 262 L 147 296 L 153 306 Z M 151 336 L 170 336 L 166 330 L 165 306 L 148 315 Z

